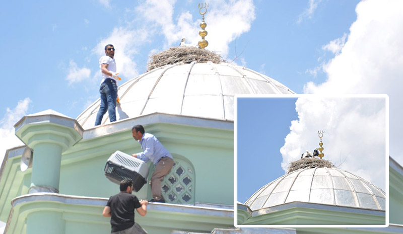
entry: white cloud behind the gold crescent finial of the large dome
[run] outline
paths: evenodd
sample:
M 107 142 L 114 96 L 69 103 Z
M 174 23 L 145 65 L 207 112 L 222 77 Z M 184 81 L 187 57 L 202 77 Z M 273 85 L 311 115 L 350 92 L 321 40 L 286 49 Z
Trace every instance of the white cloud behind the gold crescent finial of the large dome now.
M 201 16 L 193 20 L 189 12 L 184 12 L 173 19 L 175 0 L 148 1 L 137 8 L 141 17 L 146 19 L 150 26 L 162 30 L 166 38 L 164 47 L 179 45 L 181 38 L 186 38 L 189 44 L 197 45 L 201 39 L 198 35 Z M 207 23 L 207 49 L 217 51 L 225 58 L 228 56 L 229 43 L 241 34 L 250 30 L 255 19 L 255 7 L 252 0 L 224 1 L 212 0 L 209 2 L 208 12 L 205 15 Z

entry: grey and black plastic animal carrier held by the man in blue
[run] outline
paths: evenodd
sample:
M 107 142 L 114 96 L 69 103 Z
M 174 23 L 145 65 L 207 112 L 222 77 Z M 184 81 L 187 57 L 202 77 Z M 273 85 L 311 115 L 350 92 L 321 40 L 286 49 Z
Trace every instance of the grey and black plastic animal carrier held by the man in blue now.
M 129 154 L 117 150 L 110 155 L 105 165 L 105 176 L 115 184 L 124 179 L 133 181 L 133 190 L 138 192 L 147 183 L 148 165 Z

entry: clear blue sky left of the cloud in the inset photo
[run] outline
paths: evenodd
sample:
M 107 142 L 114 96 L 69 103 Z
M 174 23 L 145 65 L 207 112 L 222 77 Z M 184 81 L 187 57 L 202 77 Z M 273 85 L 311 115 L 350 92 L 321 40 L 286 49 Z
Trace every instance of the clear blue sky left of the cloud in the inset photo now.
M 263 185 L 284 175 L 280 148 L 290 132 L 290 122 L 298 119 L 296 100 L 297 98 L 238 99 L 238 201 L 244 203 Z

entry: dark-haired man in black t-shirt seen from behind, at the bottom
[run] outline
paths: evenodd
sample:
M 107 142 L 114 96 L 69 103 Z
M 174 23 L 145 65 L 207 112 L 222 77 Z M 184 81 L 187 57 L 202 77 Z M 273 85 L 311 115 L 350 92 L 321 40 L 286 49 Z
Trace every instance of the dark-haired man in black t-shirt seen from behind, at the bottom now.
M 141 216 L 145 216 L 147 214 L 148 201 L 139 201 L 135 195 L 131 194 L 132 192 L 133 182 L 131 180 L 122 180 L 120 182 L 120 193 L 111 196 L 106 203 L 102 215 L 111 217 L 111 233 L 113 234 L 147 234 L 146 230 L 135 223 L 135 209 Z

